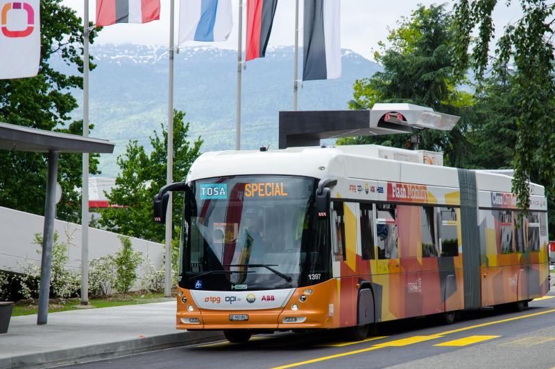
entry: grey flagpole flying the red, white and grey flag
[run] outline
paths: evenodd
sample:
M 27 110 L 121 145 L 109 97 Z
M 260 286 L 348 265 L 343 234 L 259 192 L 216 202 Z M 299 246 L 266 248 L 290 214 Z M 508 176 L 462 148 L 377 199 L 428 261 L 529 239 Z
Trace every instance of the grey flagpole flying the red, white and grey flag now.
M 89 0 L 83 13 L 83 137 L 89 136 Z M 83 153 L 81 188 L 81 300 L 89 305 L 89 154 Z

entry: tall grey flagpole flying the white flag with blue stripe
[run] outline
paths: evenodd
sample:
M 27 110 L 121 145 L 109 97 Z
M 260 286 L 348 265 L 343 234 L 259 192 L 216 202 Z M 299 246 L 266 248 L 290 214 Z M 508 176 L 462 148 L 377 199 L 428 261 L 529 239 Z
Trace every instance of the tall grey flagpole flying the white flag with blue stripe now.
M 173 182 L 173 27 L 175 2 L 169 1 L 169 88 L 168 88 L 168 168 L 166 183 Z M 172 195 L 169 192 L 166 213 L 166 273 L 164 277 L 164 295 L 171 297 L 171 231 L 172 231 Z

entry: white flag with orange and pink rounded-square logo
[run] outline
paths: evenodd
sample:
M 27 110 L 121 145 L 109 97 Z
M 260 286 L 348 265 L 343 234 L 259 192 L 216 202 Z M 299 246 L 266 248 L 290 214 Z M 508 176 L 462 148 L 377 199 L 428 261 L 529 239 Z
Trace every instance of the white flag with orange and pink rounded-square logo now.
M 39 0 L 0 0 L 0 80 L 33 77 L 39 63 Z

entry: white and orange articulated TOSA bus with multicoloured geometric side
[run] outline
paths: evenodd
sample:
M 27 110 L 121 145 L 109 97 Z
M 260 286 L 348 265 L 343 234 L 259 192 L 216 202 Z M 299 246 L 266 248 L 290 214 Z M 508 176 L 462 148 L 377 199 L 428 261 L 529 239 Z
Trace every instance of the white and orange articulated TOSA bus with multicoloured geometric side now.
M 523 216 L 511 177 L 432 156 L 377 145 L 201 155 L 155 197 L 163 222 L 168 192 L 185 192 L 177 328 L 232 342 L 341 328 L 359 340 L 379 322 L 450 323 L 547 294 L 544 188 L 531 184 Z

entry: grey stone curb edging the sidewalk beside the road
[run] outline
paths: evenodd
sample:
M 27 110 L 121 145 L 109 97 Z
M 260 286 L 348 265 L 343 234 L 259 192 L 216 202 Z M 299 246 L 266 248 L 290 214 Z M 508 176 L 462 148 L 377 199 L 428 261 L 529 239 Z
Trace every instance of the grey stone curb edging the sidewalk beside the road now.
M 223 339 L 221 332 L 179 332 L 150 336 L 127 341 L 86 345 L 65 350 L 28 354 L 0 359 L 0 368 L 50 368 L 77 363 L 86 363 L 114 357 L 123 357 L 141 352 L 177 348 L 197 343 Z

